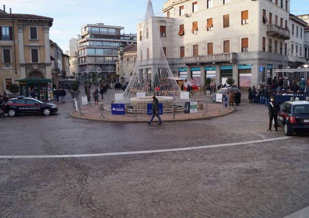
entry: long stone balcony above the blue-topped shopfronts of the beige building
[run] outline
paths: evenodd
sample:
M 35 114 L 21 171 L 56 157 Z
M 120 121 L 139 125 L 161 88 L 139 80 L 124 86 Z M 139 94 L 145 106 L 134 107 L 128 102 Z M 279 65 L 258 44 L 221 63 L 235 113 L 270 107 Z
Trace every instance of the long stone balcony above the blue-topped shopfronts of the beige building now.
M 196 63 L 213 63 L 213 62 L 229 62 L 233 63 L 236 60 L 236 53 L 221 53 L 212 55 L 201 55 L 185 57 L 185 64 L 196 64 Z

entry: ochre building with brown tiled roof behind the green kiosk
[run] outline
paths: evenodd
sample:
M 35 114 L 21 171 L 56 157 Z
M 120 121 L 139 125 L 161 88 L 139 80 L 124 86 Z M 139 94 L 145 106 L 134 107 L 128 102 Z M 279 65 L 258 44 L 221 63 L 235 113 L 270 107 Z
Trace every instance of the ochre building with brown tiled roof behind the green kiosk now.
M 52 78 L 49 28 L 53 18 L 0 10 L 0 91 L 26 77 Z

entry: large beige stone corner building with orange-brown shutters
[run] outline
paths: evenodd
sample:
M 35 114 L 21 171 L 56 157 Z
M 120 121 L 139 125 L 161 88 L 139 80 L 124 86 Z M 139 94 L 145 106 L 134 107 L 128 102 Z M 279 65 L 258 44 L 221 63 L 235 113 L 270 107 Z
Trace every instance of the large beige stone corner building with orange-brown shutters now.
M 288 66 L 289 5 L 288 0 L 170 0 L 163 7 L 166 17 L 152 19 L 175 75 L 201 86 L 206 77 L 216 84 L 233 77 L 247 89 Z M 138 47 L 142 31 L 140 23 Z

